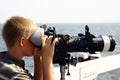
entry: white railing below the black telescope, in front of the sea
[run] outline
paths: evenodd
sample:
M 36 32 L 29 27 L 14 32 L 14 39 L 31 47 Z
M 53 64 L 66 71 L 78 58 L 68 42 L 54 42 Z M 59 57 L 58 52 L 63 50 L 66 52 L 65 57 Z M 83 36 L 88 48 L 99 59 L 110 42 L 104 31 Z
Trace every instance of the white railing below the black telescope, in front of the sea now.
M 99 74 L 113 70 L 115 80 L 120 80 L 120 54 L 78 63 L 76 67 L 70 66 L 70 76 L 65 80 L 96 80 Z M 60 80 L 59 67 L 54 69 L 55 80 Z M 66 70 L 67 73 L 67 70 Z

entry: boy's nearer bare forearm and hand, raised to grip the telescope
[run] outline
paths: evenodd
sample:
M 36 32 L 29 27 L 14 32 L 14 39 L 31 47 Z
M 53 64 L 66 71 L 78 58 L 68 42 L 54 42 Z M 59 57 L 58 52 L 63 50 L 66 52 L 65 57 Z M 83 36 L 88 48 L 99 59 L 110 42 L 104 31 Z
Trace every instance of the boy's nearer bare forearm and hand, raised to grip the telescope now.
M 53 71 L 53 55 L 54 46 L 57 39 L 52 42 L 52 36 L 44 37 L 42 42 L 42 65 L 43 65 L 43 79 L 44 80 L 54 80 Z M 52 43 L 51 43 L 52 42 Z

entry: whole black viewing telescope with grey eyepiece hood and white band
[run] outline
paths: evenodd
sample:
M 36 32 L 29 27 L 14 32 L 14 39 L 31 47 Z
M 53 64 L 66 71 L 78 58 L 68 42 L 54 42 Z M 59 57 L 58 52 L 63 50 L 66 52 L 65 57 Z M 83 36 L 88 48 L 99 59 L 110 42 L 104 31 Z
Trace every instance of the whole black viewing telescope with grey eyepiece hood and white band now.
M 46 25 L 38 28 L 31 36 L 31 41 L 38 47 L 41 47 L 42 28 L 46 29 Z M 69 34 L 57 34 L 55 27 L 49 27 L 45 30 L 45 35 L 52 35 L 53 39 L 58 38 L 55 45 L 54 58 L 65 56 L 68 52 L 95 52 L 113 51 L 115 49 L 115 40 L 109 36 L 93 35 L 89 32 L 89 27 L 85 26 L 85 34 L 78 33 L 78 36 L 70 36 Z

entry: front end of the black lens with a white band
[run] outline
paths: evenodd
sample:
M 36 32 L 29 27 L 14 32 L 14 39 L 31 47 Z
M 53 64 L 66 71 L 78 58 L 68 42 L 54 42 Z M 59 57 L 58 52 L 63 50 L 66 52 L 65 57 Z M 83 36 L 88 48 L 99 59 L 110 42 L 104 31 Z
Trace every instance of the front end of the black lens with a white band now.
M 113 51 L 115 45 L 115 40 L 112 36 L 98 36 L 93 38 L 94 51 Z

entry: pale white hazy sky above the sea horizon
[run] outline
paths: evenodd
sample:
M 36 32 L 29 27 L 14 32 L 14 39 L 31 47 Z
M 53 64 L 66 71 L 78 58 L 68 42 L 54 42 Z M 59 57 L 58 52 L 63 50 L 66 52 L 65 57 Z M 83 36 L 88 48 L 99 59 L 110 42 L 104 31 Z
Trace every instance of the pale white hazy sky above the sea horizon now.
M 0 0 L 0 22 L 11 16 L 35 23 L 120 22 L 119 0 Z

